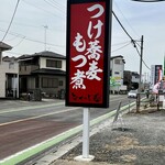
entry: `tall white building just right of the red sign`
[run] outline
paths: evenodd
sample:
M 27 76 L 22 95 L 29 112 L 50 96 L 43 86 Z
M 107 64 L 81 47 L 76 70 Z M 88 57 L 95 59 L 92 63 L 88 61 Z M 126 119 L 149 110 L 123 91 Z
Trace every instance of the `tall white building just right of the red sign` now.
M 123 72 L 124 72 L 123 56 L 112 56 L 110 58 L 110 90 L 111 92 L 119 92 L 123 88 Z M 127 90 L 127 88 L 125 88 Z

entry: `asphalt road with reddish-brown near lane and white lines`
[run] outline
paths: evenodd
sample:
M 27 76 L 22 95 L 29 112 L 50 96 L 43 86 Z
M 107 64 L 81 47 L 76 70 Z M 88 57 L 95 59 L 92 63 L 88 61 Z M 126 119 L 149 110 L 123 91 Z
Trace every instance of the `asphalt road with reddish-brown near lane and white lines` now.
M 90 109 L 90 119 L 128 105 L 127 96 L 110 97 L 109 109 Z M 131 99 L 134 101 L 134 99 Z M 0 161 L 82 123 L 82 108 L 63 100 L 0 100 Z

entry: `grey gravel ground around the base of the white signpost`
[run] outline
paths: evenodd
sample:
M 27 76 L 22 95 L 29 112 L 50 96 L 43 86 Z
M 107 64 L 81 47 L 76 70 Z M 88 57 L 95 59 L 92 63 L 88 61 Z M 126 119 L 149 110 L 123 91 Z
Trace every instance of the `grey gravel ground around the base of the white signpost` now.
M 92 162 L 76 162 L 81 143 L 52 165 L 165 165 L 165 110 L 147 109 L 127 113 L 90 136 Z

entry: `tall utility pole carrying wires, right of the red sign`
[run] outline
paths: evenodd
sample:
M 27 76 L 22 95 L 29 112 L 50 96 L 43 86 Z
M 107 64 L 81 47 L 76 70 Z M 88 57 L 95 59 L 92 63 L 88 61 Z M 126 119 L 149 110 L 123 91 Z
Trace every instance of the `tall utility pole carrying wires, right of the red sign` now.
M 141 106 L 143 42 L 144 42 L 144 37 L 142 35 L 142 38 L 141 38 L 141 56 L 140 56 L 140 81 L 139 81 L 139 96 L 138 96 L 138 102 L 136 102 L 138 103 L 136 112 L 140 112 L 140 106 Z

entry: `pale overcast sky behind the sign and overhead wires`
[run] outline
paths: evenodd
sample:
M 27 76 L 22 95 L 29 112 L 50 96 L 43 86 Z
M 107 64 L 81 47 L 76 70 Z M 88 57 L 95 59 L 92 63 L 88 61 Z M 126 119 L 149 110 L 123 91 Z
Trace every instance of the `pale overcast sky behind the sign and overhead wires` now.
M 11 21 L 18 0 L 0 0 L 0 40 Z M 163 65 L 165 55 L 165 2 L 134 2 L 113 0 L 112 10 L 120 22 L 141 45 L 144 35 L 143 59 Z M 4 43 L 13 48 L 3 55 L 20 56 L 46 50 L 66 55 L 66 0 L 20 0 L 14 20 Z M 140 56 L 131 40 L 112 16 L 111 56 L 122 55 L 125 69 L 140 72 Z M 140 46 L 138 47 L 140 51 Z M 143 65 L 142 73 L 151 73 Z

